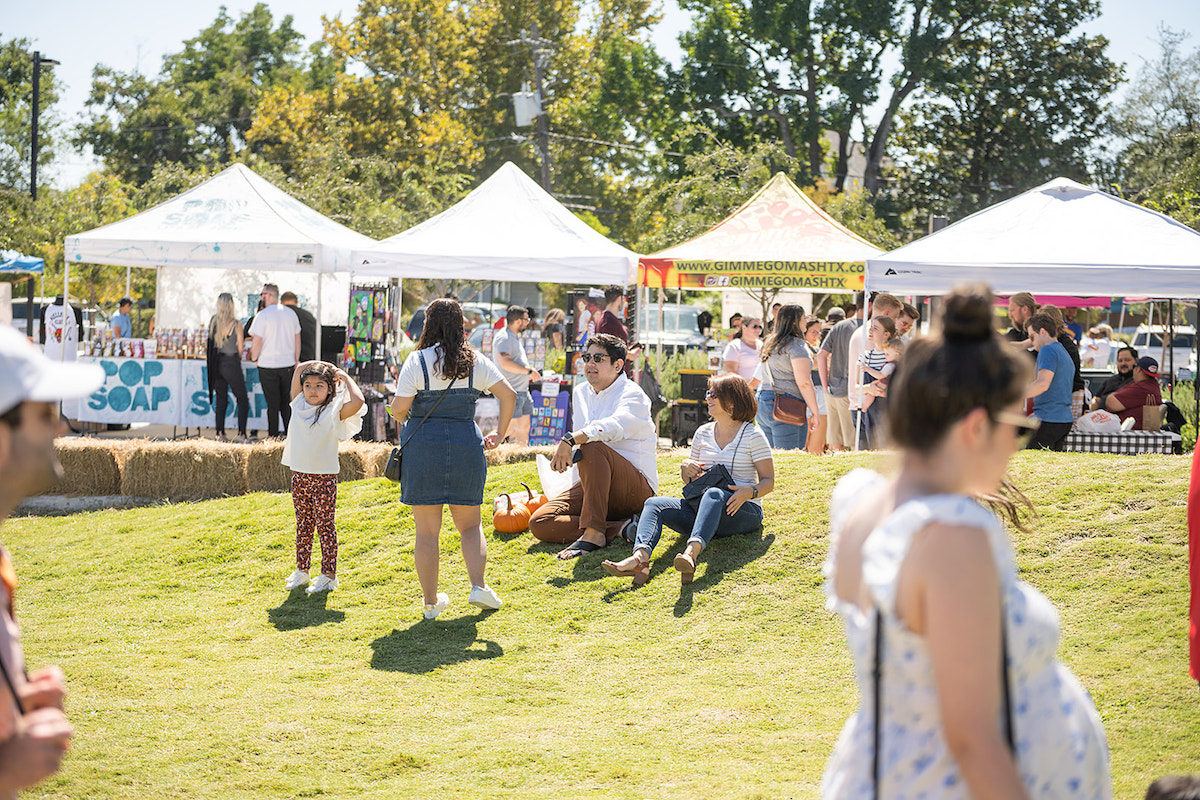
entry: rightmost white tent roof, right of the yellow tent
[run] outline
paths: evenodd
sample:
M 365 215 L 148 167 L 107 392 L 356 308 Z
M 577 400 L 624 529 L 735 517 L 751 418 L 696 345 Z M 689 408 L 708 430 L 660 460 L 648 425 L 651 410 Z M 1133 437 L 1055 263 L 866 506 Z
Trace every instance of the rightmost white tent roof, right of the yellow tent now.
M 997 294 L 1200 294 L 1200 233 L 1066 178 L 869 258 L 866 287 L 946 294 L 972 281 Z

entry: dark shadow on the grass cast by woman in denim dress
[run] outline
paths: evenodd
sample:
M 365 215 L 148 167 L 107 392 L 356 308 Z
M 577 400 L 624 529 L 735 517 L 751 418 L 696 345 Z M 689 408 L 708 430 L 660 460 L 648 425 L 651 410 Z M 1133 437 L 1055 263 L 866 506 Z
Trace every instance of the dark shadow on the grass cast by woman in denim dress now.
M 373 669 L 420 674 L 463 661 L 497 658 L 504 649 L 480 639 L 476 626 L 491 612 L 452 620 L 421 620 L 404 631 L 392 631 L 371 643 Z M 472 645 L 481 644 L 482 649 Z

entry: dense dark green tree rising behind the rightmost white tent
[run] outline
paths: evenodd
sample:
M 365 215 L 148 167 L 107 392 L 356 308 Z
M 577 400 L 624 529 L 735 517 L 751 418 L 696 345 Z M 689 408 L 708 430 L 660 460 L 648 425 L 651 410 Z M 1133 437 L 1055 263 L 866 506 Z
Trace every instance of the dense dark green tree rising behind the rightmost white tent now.
M 942 76 L 899 114 L 895 196 L 952 219 L 1063 175 L 1088 180 L 1103 97 L 1121 79 L 1102 36 L 1070 31 L 1094 0 L 1015 10 L 946 52 Z

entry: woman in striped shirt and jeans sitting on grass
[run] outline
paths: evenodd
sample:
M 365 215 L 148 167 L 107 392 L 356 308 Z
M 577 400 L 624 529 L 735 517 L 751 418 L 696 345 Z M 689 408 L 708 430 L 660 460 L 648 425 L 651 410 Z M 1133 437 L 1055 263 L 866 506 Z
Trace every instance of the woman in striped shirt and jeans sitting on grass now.
M 626 525 L 626 530 L 637 529 L 634 554 L 601 565 L 608 575 L 632 576 L 635 587 L 650 577 L 650 554 L 662 536 L 662 525 L 689 534 L 686 548 L 674 559 L 684 584 L 691 583 L 696 559 L 714 536 L 749 534 L 762 527 L 762 498 L 775 486 L 775 462 L 767 437 L 754 425 L 758 409 L 750 385 L 740 375 L 716 375 L 709 380 L 704 397 L 713 421 L 696 431 L 691 455 L 679 471 L 684 482 L 691 483 L 721 467 L 732 481 L 725 479 L 692 500 L 646 501 L 642 513 Z

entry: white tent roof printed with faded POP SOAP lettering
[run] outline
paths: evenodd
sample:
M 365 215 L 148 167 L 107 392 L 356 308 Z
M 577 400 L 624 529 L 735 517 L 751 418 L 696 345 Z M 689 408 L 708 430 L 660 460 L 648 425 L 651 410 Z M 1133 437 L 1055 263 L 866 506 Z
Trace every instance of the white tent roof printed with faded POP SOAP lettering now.
M 244 164 L 120 222 L 66 237 L 66 263 L 348 271 L 374 240 L 313 211 Z

